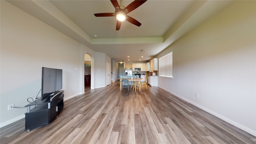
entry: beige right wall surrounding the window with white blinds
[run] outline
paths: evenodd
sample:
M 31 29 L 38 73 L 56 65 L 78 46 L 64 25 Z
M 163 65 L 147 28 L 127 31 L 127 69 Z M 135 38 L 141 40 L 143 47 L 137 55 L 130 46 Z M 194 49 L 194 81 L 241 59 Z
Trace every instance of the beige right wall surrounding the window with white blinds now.
M 161 88 L 256 135 L 256 1 L 235 1 L 158 58 L 171 51 Z

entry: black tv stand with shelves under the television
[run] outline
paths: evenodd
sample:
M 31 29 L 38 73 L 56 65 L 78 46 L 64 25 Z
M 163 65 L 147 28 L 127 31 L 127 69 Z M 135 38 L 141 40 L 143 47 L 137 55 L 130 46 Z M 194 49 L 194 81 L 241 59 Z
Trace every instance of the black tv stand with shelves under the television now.
M 64 90 L 55 92 L 54 96 L 48 96 L 43 101 L 37 99 L 26 105 L 25 130 L 28 132 L 32 128 L 50 124 L 60 113 L 64 106 Z M 34 108 L 30 109 L 30 106 Z

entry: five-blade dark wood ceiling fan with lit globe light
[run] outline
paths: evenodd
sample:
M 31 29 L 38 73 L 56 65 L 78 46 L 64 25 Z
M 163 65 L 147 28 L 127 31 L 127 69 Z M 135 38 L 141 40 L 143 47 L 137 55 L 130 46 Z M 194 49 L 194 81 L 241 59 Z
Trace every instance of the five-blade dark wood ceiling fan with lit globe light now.
M 140 22 L 138 22 L 137 20 L 135 20 L 134 18 L 132 18 L 130 16 L 127 16 L 127 14 L 129 12 L 133 11 L 134 9 L 138 8 L 139 6 L 141 6 L 147 0 L 134 0 L 132 3 L 130 3 L 126 7 L 122 5 L 122 1 L 121 1 L 120 5 L 118 4 L 117 0 L 110 0 L 110 1 L 115 8 L 115 13 L 98 13 L 98 14 L 94 14 L 94 16 L 96 16 L 96 17 L 115 16 L 117 19 L 116 30 L 120 30 L 121 23 L 124 20 L 127 20 L 128 22 L 130 22 L 136 26 L 141 25 Z

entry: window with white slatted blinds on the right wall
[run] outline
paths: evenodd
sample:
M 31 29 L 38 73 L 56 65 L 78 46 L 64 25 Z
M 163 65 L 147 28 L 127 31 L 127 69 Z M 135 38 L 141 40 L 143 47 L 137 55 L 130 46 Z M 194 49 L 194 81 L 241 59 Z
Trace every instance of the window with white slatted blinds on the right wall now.
M 159 76 L 172 78 L 172 52 L 159 58 Z

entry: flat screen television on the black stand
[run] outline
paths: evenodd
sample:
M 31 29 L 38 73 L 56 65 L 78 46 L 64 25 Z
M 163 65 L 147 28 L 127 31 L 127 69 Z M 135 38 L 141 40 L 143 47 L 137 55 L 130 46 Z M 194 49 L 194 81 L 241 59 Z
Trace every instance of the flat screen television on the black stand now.
M 62 89 L 62 70 L 42 67 L 42 100 Z

